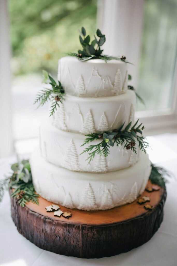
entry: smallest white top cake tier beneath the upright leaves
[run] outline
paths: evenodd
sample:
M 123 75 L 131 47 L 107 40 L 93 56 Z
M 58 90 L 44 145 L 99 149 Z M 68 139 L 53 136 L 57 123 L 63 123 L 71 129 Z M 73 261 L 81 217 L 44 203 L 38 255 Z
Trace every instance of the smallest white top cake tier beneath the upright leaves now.
M 120 60 L 79 61 L 66 56 L 58 62 L 58 80 L 67 94 L 79 97 L 106 97 L 126 93 L 127 64 Z

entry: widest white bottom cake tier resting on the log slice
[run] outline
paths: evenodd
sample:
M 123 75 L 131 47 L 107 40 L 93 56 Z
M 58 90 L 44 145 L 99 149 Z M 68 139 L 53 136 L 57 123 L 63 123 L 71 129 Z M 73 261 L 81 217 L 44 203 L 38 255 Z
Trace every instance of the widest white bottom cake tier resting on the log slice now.
M 33 185 L 46 200 L 70 209 L 107 210 L 141 195 L 150 175 L 147 154 L 126 169 L 107 173 L 72 172 L 45 161 L 37 148 L 31 157 Z

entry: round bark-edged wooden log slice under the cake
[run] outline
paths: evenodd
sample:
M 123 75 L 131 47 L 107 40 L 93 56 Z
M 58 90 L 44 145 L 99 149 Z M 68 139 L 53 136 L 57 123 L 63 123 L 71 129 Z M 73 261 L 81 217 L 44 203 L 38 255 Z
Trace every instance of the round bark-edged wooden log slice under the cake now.
M 148 182 L 148 186 L 152 186 Z M 150 202 L 137 203 L 143 196 Z M 104 211 L 82 211 L 61 207 L 72 217 L 55 217 L 45 207 L 52 204 L 39 197 L 39 206 L 29 202 L 25 207 L 11 198 L 12 219 L 20 234 L 36 246 L 66 256 L 100 258 L 127 252 L 146 243 L 163 220 L 166 190 L 146 192 L 134 202 Z M 152 205 L 146 210 L 144 205 Z

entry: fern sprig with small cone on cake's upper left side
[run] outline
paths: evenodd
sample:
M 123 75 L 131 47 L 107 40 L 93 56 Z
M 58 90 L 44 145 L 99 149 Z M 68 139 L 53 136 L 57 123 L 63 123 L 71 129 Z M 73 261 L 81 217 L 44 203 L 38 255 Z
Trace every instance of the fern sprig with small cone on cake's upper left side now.
M 50 84 L 51 89 L 44 88 L 43 90 L 40 90 L 37 94 L 35 103 L 39 103 L 39 106 L 43 106 L 46 102 L 51 101 L 51 107 L 50 107 L 50 116 L 55 113 L 60 103 L 63 103 L 65 101 L 64 98 L 64 89 L 62 87 L 61 82 L 58 80 L 56 82 L 47 71 L 42 70 L 43 74 L 43 80 L 42 83 Z M 38 106 L 38 107 L 39 107 Z

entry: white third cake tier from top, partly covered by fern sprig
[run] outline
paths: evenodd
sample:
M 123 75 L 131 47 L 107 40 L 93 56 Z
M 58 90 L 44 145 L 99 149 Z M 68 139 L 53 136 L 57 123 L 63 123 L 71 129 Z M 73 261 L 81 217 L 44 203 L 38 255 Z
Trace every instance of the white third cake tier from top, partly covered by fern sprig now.
M 131 150 L 114 145 L 107 157 L 100 158 L 100 155 L 96 155 L 88 165 L 88 161 L 86 161 L 88 154 L 80 155 L 87 147 L 87 144 L 81 147 L 84 140 L 85 135 L 59 130 L 50 124 L 50 120 L 41 124 L 42 156 L 47 158 L 46 160 L 50 163 L 72 171 L 98 173 L 115 171 L 134 164 L 142 154 L 142 152 L 139 153 L 138 146 L 137 155 L 136 153 L 134 155 Z M 91 144 L 95 145 L 99 142 L 100 140 L 94 140 Z M 47 151 L 47 157 L 45 151 Z

